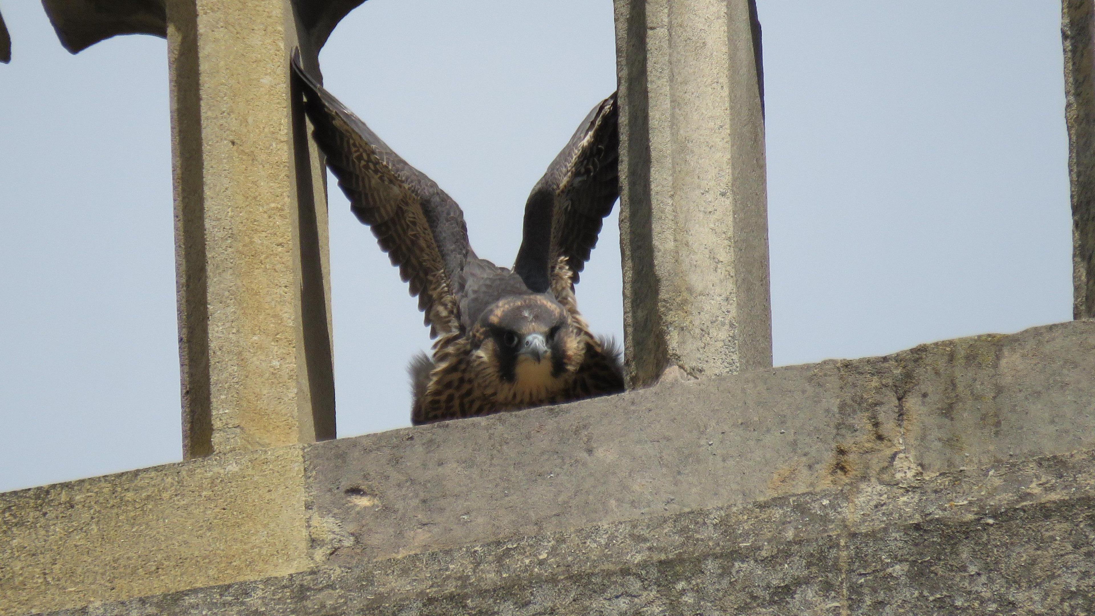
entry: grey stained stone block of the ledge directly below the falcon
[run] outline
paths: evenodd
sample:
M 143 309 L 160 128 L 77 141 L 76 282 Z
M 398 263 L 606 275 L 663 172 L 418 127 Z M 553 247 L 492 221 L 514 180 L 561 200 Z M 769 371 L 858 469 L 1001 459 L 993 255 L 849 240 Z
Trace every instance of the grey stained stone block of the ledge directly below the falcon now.
M 1095 321 L 306 448 L 335 561 L 1095 447 Z M 323 549 L 316 546 L 316 549 Z

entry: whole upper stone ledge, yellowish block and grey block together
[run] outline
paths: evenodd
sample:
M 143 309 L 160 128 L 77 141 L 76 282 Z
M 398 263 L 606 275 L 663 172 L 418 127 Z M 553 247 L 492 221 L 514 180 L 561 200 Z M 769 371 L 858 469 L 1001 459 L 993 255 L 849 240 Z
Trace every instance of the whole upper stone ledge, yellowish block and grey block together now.
M 1074 321 L 9 492 L 0 614 L 1091 449 L 1093 374 Z

